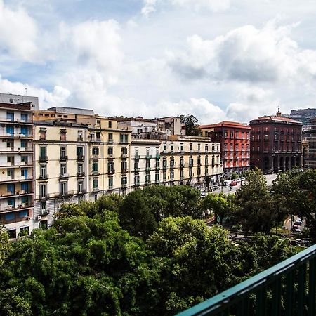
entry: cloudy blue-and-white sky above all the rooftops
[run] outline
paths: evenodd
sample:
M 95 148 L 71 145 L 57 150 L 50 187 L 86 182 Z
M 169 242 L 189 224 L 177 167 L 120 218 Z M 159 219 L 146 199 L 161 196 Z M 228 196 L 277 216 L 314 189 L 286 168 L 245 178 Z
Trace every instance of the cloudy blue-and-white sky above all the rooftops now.
M 0 0 L 0 92 L 105 116 L 316 107 L 315 0 Z

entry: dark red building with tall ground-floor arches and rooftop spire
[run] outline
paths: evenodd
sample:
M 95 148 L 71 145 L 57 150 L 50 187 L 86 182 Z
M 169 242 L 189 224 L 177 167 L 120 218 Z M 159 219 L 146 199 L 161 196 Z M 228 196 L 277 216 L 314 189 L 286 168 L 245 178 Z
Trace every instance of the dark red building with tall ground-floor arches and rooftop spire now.
M 251 166 L 265 173 L 301 166 L 302 123 L 281 112 L 250 121 Z

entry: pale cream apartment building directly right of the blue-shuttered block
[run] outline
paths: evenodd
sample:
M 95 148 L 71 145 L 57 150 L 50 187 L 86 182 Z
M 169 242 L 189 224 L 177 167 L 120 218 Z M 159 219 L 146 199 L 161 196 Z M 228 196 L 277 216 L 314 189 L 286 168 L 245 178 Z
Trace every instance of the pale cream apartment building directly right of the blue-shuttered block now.
M 61 204 L 88 199 L 88 126 L 34 121 L 34 228 L 53 223 Z

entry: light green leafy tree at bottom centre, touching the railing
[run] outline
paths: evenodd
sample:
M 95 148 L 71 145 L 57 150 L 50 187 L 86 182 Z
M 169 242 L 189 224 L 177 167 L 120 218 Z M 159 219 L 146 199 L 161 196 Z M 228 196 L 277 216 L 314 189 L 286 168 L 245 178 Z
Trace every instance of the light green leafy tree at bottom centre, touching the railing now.
M 154 256 L 166 258 L 160 282 L 164 309 L 157 315 L 173 315 L 238 281 L 238 249 L 217 225 L 209 229 L 190 216 L 164 218 L 147 245 Z

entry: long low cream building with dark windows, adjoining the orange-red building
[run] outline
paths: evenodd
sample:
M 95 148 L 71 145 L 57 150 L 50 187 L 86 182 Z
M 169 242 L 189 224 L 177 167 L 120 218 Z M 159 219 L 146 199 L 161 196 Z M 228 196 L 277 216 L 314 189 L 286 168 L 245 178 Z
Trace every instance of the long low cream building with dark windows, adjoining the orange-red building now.
M 212 143 L 210 138 L 168 136 L 162 141 L 160 157 L 163 185 L 190 184 L 208 190 L 220 182 L 220 143 Z

